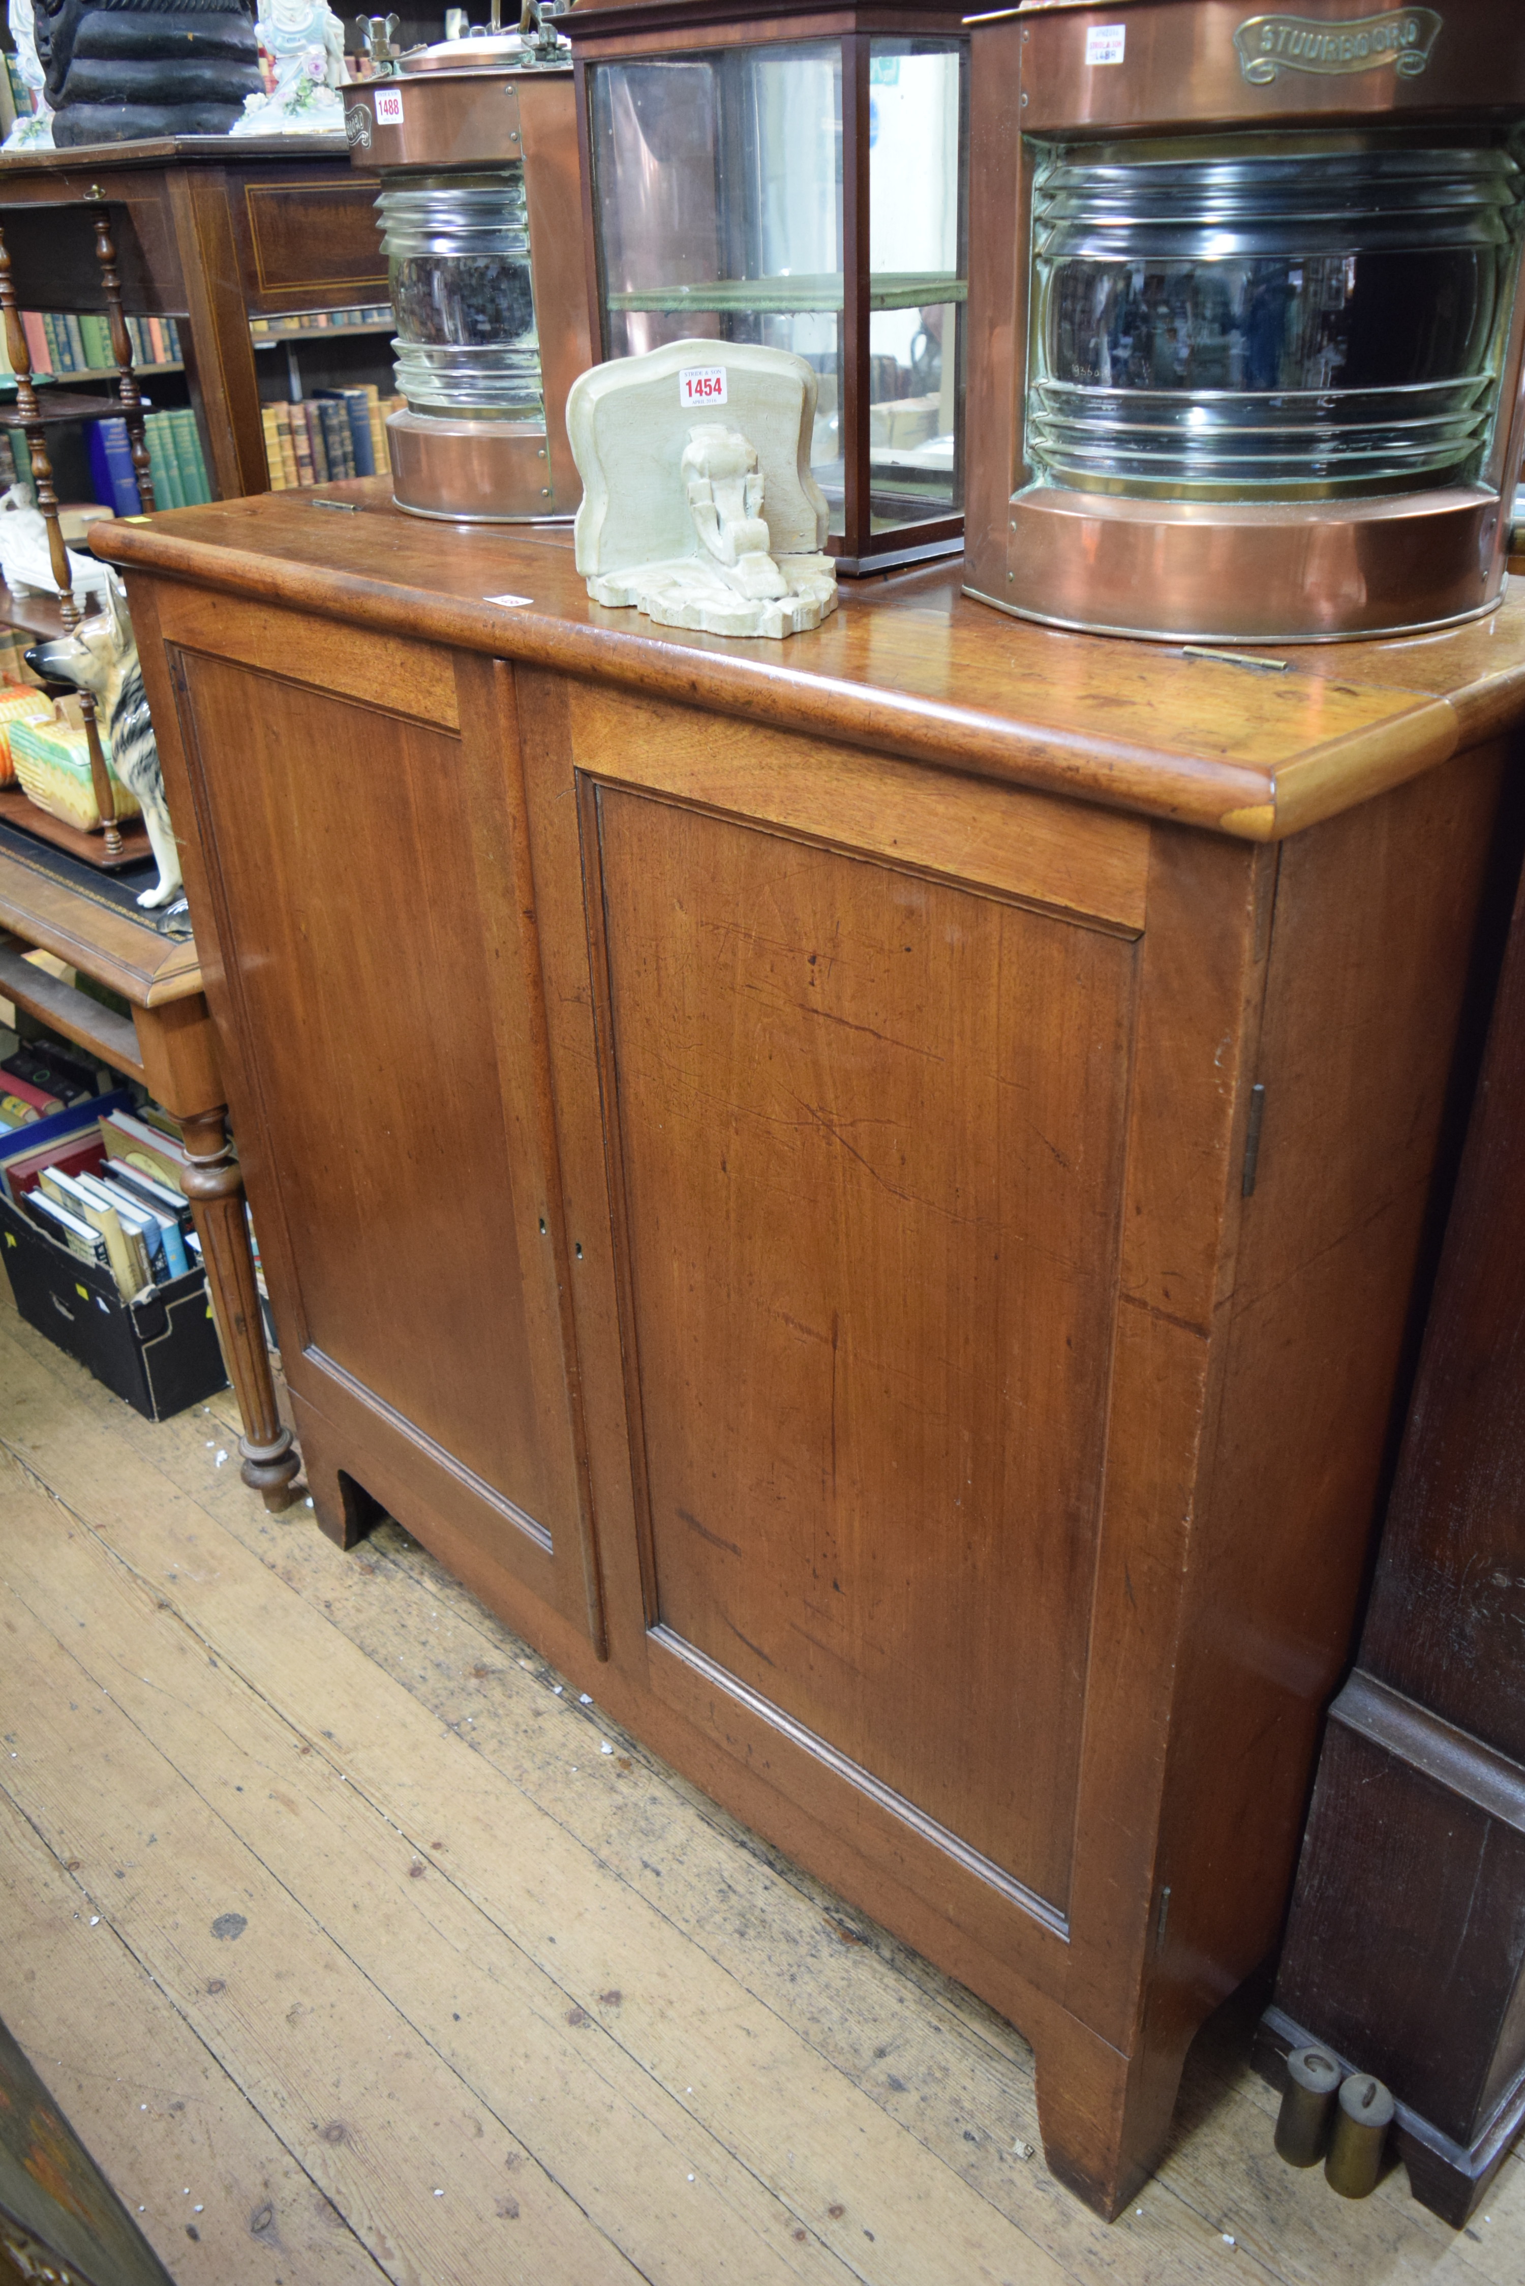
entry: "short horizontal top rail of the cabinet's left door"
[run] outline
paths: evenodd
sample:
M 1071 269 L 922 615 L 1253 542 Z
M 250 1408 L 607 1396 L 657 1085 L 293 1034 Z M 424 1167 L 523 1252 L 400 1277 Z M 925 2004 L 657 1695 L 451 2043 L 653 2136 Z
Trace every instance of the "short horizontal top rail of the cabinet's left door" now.
M 460 725 L 453 658 L 430 642 L 368 636 L 197 588 L 160 588 L 158 608 L 165 642 L 235 658 L 318 693 L 389 706 L 409 720 Z

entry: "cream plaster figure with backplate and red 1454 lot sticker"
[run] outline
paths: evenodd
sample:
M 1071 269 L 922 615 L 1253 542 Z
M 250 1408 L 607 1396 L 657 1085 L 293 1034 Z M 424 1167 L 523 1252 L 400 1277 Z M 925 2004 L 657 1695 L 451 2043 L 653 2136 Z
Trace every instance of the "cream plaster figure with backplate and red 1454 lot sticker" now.
M 830 617 L 814 416 L 805 359 L 752 343 L 672 341 L 583 373 L 567 434 L 592 601 L 711 636 L 798 636 Z

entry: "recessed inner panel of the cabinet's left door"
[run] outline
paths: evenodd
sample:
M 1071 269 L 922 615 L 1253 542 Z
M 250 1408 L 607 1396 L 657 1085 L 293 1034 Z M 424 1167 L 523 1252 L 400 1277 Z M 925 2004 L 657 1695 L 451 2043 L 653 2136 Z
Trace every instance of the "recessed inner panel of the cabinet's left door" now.
M 183 656 L 181 674 L 222 958 L 300 1232 L 300 1346 L 574 1548 L 565 1420 L 535 1404 L 517 1246 L 533 1200 L 498 1090 L 460 743 L 219 661 Z

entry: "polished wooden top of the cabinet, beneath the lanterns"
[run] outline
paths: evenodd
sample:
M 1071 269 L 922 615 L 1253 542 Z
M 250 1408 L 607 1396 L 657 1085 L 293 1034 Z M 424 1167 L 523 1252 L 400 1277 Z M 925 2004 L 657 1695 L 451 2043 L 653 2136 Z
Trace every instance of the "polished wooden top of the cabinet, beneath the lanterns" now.
M 386 478 L 96 523 L 94 549 L 258 604 L 1251 841 L 1335 816 L 1525 716 L 1525 581 L 1438 636 L 1196 656 L 1006 617 L 960 594 L 956 560 L 844 581 L 837 613 L 787 642 L 663 629 L 588 599 L 569 528 L 407 517 Z

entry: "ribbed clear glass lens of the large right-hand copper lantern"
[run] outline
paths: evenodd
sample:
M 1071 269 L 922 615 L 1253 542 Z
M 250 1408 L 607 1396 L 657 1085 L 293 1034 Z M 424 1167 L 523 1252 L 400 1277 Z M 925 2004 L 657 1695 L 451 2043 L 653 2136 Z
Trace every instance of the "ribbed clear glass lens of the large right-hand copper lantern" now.
M 1052 151 L 1033 183 L 1029 464 L 1180 501 L 1475 480 L 1520 190 L 1507 149 L 1434 139 Z

